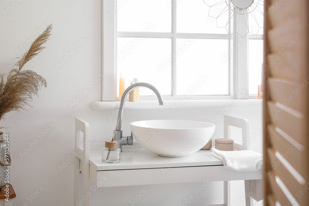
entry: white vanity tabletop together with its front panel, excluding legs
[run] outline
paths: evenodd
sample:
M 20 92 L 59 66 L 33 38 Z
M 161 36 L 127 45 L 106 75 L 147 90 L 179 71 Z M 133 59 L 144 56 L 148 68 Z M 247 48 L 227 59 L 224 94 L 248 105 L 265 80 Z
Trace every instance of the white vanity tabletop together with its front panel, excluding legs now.
M 123 149 L 121 162 L 102 163 L 101 150 L 89 153 L 89 179 L 98 187 L 260 179 L 260 171 L 225 169 L 211 150 L 199 150 L 181 158 L 160 157 L 146 149 Z M 126 158 L 128 157 L 128 158 Z M 104 183 L 100 183 L 104 180 Z

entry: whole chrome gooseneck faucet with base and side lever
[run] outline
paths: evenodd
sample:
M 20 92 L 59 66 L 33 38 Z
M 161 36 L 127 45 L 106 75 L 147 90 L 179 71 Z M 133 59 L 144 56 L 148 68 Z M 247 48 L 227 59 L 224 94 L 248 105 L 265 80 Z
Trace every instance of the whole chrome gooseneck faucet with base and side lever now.
M 133 134 L 132 134 L 132 132 L 131 132 L 131 136 L 122 137 L 121 123 L 122 123 L 123 111 L 125 109 L 125 100 L 127 99 L 129 92 L 131 90 L 137 88 L 137 87 L 147 87 L 147 88 L 153 90 L 158 97 L 159 105 L 163 105 L 163 98 L 162 98 L 162 95 L 160 94 L 159 90 L 155 86 L 153 86 L 149 83 L 146 83 L 146 82 L 138 82 L 138 83 L 132 84 L 123 92 L 123 95 L 122 95 L 121 101 L 120 101 L 119 112 L 118 112 L 119 123 L 118 123 L 118 126 L 116 128 L 116 133 L 115 133 L 115 138 L 114 138 L 114 141 L 118 141 L 118 147 L 120 147 L 121 152 L 122 152 L 122 145 L 133 145 Z M 121 113 L 121 116 L 120 116 L 120 113 Z

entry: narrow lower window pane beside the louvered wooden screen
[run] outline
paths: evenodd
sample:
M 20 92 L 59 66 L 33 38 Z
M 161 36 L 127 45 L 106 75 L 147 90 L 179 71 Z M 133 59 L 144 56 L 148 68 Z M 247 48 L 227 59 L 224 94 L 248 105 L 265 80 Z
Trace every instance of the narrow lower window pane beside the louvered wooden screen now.
M 249 95 L 257 95 L 258 85 L 261 84 L 263 40 L 249 39 L 248 56 Z

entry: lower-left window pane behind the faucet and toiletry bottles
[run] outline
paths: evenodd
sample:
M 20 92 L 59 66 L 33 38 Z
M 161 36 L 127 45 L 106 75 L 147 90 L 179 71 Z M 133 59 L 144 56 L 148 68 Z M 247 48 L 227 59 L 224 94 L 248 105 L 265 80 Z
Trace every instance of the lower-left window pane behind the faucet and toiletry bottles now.
M 171 39 L 165 38 L 117 38 L 117 95 L 120 71 L 125 73 L 125 87 L 133 78 L 153 84 L 162 95 L 171 95 Z M 163 65 L 164 61 L 164 65 Z M 163 66 L 160 69 L 159 66 Z M 155 95 L 142 88 L 140 95 Z

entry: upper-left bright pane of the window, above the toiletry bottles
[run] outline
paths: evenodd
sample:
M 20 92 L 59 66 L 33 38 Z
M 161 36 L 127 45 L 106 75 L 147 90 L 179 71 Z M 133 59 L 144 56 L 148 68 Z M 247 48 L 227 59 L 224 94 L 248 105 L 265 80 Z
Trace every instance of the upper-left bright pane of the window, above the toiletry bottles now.
M 118 32 L 171 32 L 171 0 L 117 0 Z

